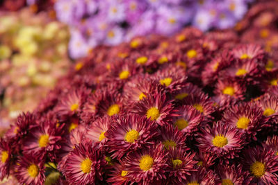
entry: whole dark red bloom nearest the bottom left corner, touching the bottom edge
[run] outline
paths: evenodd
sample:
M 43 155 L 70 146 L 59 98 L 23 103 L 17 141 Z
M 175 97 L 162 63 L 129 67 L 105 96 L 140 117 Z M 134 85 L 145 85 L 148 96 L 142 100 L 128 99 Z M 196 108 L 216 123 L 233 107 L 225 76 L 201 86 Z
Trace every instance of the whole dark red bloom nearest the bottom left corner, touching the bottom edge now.
M 19 157 L 15 166 L 15 177 L 21 184 L 44 184 L 44 160 L 38 156 Z

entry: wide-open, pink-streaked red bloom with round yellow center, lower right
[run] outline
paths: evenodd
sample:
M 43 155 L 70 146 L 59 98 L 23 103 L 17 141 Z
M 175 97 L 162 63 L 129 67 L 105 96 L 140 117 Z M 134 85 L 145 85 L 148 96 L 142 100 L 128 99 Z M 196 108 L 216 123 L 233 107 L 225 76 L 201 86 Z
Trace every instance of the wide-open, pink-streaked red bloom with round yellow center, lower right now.
M 197 138 L 198 147 L 204 152 L 223 159 L 234 159 L 245 144 L 243 133 L 236 127 L 218 122 L 213 127 L 202 129 L 202 134 Z

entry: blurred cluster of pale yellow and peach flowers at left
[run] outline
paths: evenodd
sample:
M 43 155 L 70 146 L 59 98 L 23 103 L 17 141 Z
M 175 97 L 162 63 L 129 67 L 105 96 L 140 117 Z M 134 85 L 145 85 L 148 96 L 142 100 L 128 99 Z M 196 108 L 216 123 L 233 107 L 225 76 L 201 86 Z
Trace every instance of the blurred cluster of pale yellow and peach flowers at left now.
M 0 122 L 33 111 L 70 66 L 67 26 L 28 8 L 0 15 Z M 4 125 L 1 124 L 1 127 Z

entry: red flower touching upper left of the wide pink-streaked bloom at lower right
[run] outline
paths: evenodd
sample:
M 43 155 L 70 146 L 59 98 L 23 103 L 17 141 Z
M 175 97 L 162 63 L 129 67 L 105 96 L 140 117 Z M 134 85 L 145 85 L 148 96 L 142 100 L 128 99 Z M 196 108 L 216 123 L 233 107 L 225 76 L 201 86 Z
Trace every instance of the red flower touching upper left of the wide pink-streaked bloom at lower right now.
M 176 114 L 179 116 L 175 116 L 172 123 L 186 136 L 193 136 L 197 132 L 199 124 L 203 121 L 202 114 L 190 105 L 179 107 Z

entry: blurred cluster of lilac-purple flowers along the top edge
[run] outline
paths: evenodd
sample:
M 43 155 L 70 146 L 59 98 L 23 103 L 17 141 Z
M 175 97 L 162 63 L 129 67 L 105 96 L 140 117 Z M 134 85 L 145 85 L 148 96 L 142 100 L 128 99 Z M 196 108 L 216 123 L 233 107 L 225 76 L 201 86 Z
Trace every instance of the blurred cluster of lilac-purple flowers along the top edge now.
M 229 28 L 250 0 L 59 0 L 58 20 L 70 25 L 70 55 L 81 58 L 99 44 L 129 42 L 134 36 L 172 35 L 187 24 L 201 30 Z

